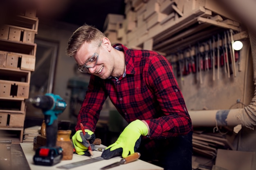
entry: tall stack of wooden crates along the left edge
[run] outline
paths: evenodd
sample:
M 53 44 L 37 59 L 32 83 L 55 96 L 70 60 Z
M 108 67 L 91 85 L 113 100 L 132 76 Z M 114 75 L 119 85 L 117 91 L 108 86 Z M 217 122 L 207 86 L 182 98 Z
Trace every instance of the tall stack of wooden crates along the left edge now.
M 23 138 L 31 71 L 35 69 L 38 30 L 36 10 L 0 25 L 0 130 L 20 131 Z

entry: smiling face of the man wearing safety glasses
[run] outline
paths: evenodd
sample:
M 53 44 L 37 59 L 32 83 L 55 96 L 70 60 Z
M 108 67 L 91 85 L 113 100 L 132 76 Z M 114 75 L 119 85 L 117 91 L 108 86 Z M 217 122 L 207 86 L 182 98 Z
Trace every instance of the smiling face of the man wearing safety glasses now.
M 114 70 L 113 57 L 110 55 L 111 44 L 109 43 L 106 38 L 103 38 L 100 46 L 94 43 L 84 42 L 74 55 L 76 63 L 79 67 L 84 66 L 85 62 L 88 62 L 97 53 L 97 63 L 94 67 L 87 68 L 88 73 L 97 75 L 101 79 L 107 79 Z

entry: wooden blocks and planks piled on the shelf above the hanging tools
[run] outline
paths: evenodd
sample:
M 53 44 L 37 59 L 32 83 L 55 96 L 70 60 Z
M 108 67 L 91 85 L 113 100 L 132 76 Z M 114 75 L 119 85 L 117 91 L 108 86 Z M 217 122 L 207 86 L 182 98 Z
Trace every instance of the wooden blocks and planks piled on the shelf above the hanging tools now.
M 169 55 L 209 38 L 216 29 L 241 31 L 239 22 L 214 0 L 125 0 L 125 3 L 125 16 L 115 30 L 114 42 L 118 40 L 129 48 Z M 109 15 L 106 23 L 110 18 Z

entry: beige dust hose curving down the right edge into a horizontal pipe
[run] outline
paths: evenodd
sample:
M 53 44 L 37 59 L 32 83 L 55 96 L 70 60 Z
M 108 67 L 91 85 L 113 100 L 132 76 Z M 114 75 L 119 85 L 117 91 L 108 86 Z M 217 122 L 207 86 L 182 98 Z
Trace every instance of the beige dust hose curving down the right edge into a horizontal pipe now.
M 200 110 L 189 111 L 193 126 L 236 126 L 241 124 L 250 129 L 256 125 L 256 19 L 254 0 L 219 0 L 219 2 L 236 13 L 248 28 L 252 49 L 254 96 L 252 102 L 244 108 L 231 110 Z M 244 10 L 245 9 L 245 10 Z M 252 10 L 248 10 L 252 9 Z M 245 12 L 246 11 L 246 12 Z M 251 20 L 254 18 L 254 20 Z

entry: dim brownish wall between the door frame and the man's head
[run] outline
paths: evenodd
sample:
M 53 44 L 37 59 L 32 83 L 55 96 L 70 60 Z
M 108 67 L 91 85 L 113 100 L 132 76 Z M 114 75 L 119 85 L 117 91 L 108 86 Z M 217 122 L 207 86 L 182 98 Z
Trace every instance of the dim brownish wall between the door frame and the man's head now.
M 70 95 L 71 90 L 67 88 L 67 82 L 75 76 L 74 59 L 65 54 L 68 39 L 78 28 L 76 25 L 66 23 L 51 23 L 40 20 L 36 38 L 58 42 L 58 54 L 55 66 L 54 84 L 52 93 L 60 95 L 67 102 L 67 108 L 58 116 L 58 120 L 70 120 Z M 76 120 L 73 120 L 76 121 Z

